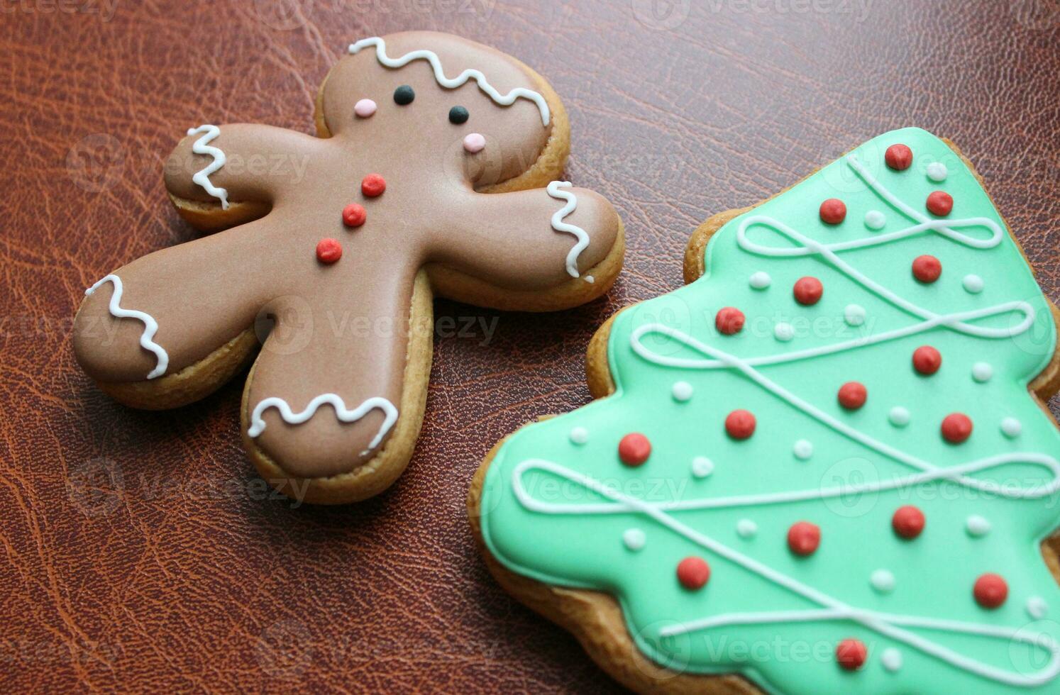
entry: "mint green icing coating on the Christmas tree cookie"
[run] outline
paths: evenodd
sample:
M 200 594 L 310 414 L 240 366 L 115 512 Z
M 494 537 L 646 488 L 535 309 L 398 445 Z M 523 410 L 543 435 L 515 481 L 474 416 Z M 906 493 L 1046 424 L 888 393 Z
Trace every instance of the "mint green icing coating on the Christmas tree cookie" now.
M 904 172 L 884 164 L 884 152 L 895 143 L 913 149 L 913 166 Z M 862 145 L 855 156 L 871 176 L 917 213 L 926 216 L 928 194 L 942 190 L 955 201 L 948 221 L 985 217 L 1004 230 L 972 173 L 931 133 L 914 128 L 888 132 Z M 926 176 L 932 162 L 946 165 L 944 181 Z M 844 200 L 848 210 L 846 220 L 836 227 L 823 224 L 817 214 L 820 201 L 831 197 Z M 882 229 L 865 224 L 870 211 L 884 214 Z M 1031 642 L 1039 635 L 1045 636 L 1039 639 L 1046 644 L 1049 639 L 1060 640 L 1060 624 L 1055 622 L 1060 616 L 1060 591 L 1039 550 L 1041 539 L 1057 525 L 1060 496 L 1019 499 L 953 480 L 865 489 L 877 481 L 921 471 L 827 426 L 740 370 L 664 366 L 631 349 L 634 331 L 652 323 L 753 359 L 878 337 L 921 321 L 819 255 L 770 256 L 741 248 L 737 230 L 748 215 L 773 217 L 822 244 L 878 237 L 916 224 L 874 193 L 841 158 L 725 225 L 707 247 L 704 278 L 639 304 L 614 322 L 608 343 L 617 387 L 614 395 L 526 427 L 500 448 L 487 473 L 481 498 L 482 532 L 490 551 L 515 572 L 611 593 L 621 603 L 630 632 L 643 653 L 675 671 L 740 672 L 765 690 L 784 693 L 1056 692 L 1060 679 L 1029 687 L 1006 681 L 1034 679 L 1057 667 L 1048 648 Z M 990 237 L 984 225 L 954 229 L 976 239 Z M 764 246 L 796 247 L 761 225 L 749 227 L 747 238 Z M 941 278 L 930 285 L 918 283 L 911 272 L 913 259 L 924 253 L 937 256 L 943 268 Z M 929 230 L 837 255 L 898 298 L 938 315 L 1026 302 L 1036 318 L 1028 329 L 1010 338 L 935 326 L 894 340 L 759 366 L 756 374 L 826 417 L 934 466 L 950 468 L 986 457 L 1028 452 L 1055 463 L 1060 434 L 1028 395 L 1027 384 L 1053 355 L 1056 327 L 1047 302 L 1007 234 L 991 248 L 972 248 Z M 768 273 L 768 287 L 750 286 L 748 279 L 756 272 Z M 971 273 L 984 281 L 977 293 L 962 288 L 962 279 Z M 802 275 L 814 275 L 824 284 L 824 298 L 814 306 L 801 306 L 793 299 L 792 286 Z M 865 309 L 865 321 L 856 327 L 844 321 L 851 304 Z M 736 336 L 720 335 L 714 328 L 714 315 L 723 306 L 736 306 L 746 315 L 746 324 Z M 1011 329 L 1021 318 L 1008 311 L 969 323 L 996 332 Z M 778 322 L 793 325 L 792 340 L 775 338 Z M 709 359 L 657 333 L 644 336 L 641 344 L 664 361 Z M 913 351 L 922 344 L 934 345 L 942 355 L 942 368 L 930 377 L 912 368 Z M 977 362 L 992 367 L 989 380 L 972 377 Z M 866 405 L 855 412 L 836 403 L 836 391 L 848 380 L 861 381 L 868 389 Z M 673 396 L 677 381 L 691 385 L 691 398 Z M 904 427 L 888 421 L 896 407 L 908 411 Z M 755 434 L 742 442 L 729 439 L 723 426 L 725 415 L 737 408 L 752 411 L 758 421 Z M 939 433 L 942 418 L 955 411 L 968 414 L 975 425 L 961 445 L 948 444 Z M 1002 432 L 1001 422 L 1006 417 L 1022 425 L 1018 436 Z M 572 441 L 570 432 L 576 428 L 584 428 L 584 444 Z M 635 468 L 622 465 L 617 456 L 619 440 L 633 431 L 644 433 L 653 446 L 649 461 Z M 795 455 L 795 443 L 800 440 L 812 444 L 807 459 Z M 696 457 L 712 462 L 709 476 L 693 475 Z M 551 462 L 562 469 L 550 473 L 528 461 Z M 520 464 L 524 470 L 518 481 L 531 500 L 529 507 L 513 488 L 513 474 Z M 1046 466 L 1019 461 L 969 475 L 987 484 L 993 481 L 1020 489 L 1050 485 L 1055 478 Z M 620 499 L 639 500 L 647 506 L 634 509 L 636 502 L 622 503 L 590 492 L 577 482 L 579 476 L 618 491 L 624 496 Z M 674 501 L 836 486 L 863 492 L 824 500 L 660 509 Z M 891 515 L 904 504 L 915 504 L 926 516 L 926 528 L 915 540 L 902 540 L 891 531 Z M 560 506 L 561 513 L 545 513 L 537 509 L 541 505 L 553 512 Z M 607 513 L 587 513 L 591 510 Z M 973 515 L 990 523 L 985 536 L 967 531 L 967 520 Z M 815 554 L 799 558 L 788 549 L 787 530 L 803 519 L 820 527 L 822 543 Z M 752 525 L 747 520 L 757 527 L 754 534 L 746 533 Z M 738 525 L 744 534 L 738 533 Z M 630 530 L 642 532 L 639 550 L 630 550 L 623 542 Z M 628 537 L 638 540 L 639 535 L 633 532 Z M 712 570 L 709 583 L 699 591 L 682 588 L 676 580 L 677 563 L 689 555 L 703 557 Z M 748 568 L 747 562 L 760 566 Z M 825 620 L 819 614 L 801 622 L 748 624 L 740 616 L 794 616 L 824 607 L 820 601 L 756 571 L 761 568 L 809 587 L 828 601 L 884 613 L 881 620 L 889 621 L 890 627 L 877 630 L 854 620 Z M 877 570 L 894 575 L 891 591 L 873 588 L 870 577 Z M 995 610 L 979 607 L 972 598 L 976 577 L 986 572 L 999 573 L 1008 583 L 1008 600 Z M 1044 619 L 1028 614 L 1032 598 L 1044 602 Z M 896 626 L 896 616 L 990 626 L 1002 636 Z M 705 619 L 722 623 L 683 635 L 668 631 Z M 896 629 L 901 630 L 898 637 Z M 1017 630 L 1015 639 L 1008 636 Z M 909 644 L 903 636 L 928 640 L 975 665 L 954 665 Z M 842 671 L 835 661 L 835 645 L 846 638 L 860 639 L 868 646 L 864 667 L 854 673 Z M 895 651 L 901 665 L 888 670 L 884 654 L 893 657 Z M 979 667 L 996 670 L 1002 677 L 975 673 Z

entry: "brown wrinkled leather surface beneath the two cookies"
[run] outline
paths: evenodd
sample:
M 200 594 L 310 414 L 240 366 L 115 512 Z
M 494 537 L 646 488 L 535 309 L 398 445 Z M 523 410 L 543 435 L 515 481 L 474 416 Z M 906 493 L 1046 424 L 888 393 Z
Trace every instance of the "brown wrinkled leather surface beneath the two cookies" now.
M 471 477 L 518 425 L 588 399 L 589 336 L 681 285 L 699 222 L 889 128 L 960 143 L 1060 301 L 1055 0 L 674 6 L 0 6 L 5 690 L 614 688 L 490 578 L 464 514 Z M 556 315 L 440 302 L 409 469 L 367 503 L 293 510 L 244 458 L 241 379 L 178 411 L 128 410 L 76 368 L 70 324 L 105 272 L 193 237 L 161 176 L 189 126 L 310 132 L 347 43 L 404 29 L 495 46 L 552 83 L 571 118 L 570 178 L 619 209 L 626 269 L 606 300 Z

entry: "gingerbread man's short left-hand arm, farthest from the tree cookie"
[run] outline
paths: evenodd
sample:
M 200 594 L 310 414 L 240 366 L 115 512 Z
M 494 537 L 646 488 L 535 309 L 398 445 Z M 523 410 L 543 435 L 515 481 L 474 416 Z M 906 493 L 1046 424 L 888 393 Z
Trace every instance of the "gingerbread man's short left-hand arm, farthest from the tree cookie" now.
M 183 201 L 272 202 L 305 176 L 320 140 L 285 128 L 236 123 L 190 128 L 165 161 L 165 189 Z

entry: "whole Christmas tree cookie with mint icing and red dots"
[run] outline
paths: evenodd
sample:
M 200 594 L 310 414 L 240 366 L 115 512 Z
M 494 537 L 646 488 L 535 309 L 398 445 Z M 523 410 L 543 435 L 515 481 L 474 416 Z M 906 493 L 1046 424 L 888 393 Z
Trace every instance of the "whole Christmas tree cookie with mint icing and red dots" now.
M 971 164 L 880 136 L 686 275 L 480 469 L 501 584 L 638 690 L 1060 690 L 1054 309 Z

